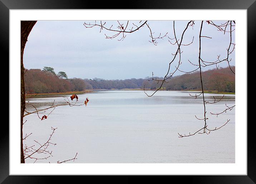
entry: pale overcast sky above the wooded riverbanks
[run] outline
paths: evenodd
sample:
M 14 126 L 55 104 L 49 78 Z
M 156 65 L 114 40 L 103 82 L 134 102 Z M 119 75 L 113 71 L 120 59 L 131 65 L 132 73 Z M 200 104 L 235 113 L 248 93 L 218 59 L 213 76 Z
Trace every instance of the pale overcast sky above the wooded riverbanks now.
M 159 39 L 158 44 L 149 42 L 150 32 L 147 26 L 138 31 L 127 34 L 123 41 L 105 39 L 105 35 L 111 36 L 113 32 L 99 32 L 99 27 L 86 28 L 83 23 L 94 21 L 38 21 L 28 37 L 24 51 L 25 68 L 53 67 L 55 72 L 64 71 L 69 78 L 104 78 L 104 79 L 127 79 L 145 78 L 147 76 L 164 76 L 168 70 L 168 63 L 172 60 L 177 50 L 177 45 L 171 45 L 168 37 Z M 120 21 L 124 23 L 125 21 Z M 143 22 L 143 21 L 142 21 Z M 180 40 L 181 34 L 188 21 L 175 21 L 176 36 Z M 217 22 L 217 21 L 216 21 Z M 226 22 L 226 21 L 221 21 Z M 129 28 L 139 25 L 139 21 L 132 21 Z M 174 38 L 173 21 L 148 21 L 154 36 L 159 33 L 165 35 L 168 32 L 170 38 Z M 219 22 L 217 22 L 219 23 Z M 118 26 L 117 21 L 107 21 L 106 26 Z M 192 71 L 196 66 L 188 62 L 198 63 L 200 21 L 195 21 L 195 26 L 188 27 L 184 34 L 183 44 L 194 41 L 189 46 L 182 46 L 179 69 Z M 134 28 L 133 28 L 134 29 Z M 203 23 L 202 35 L 212 39 L 201 39 L 201 57 L 205 61 L 216 61 L 226 58 L 230 35 L 218 31 L 212 25 Z M 235 43 L 235 31 L 232 32 L 232 42 Z M 174 42 L 173 40 L 170 40 Z M 235 51 L 230 55 L 230 65 L 235 65 Z M 171 72 L 178 63 L 171 65 Z M 220 67 L 227 67 L 227 62 L 222 62 Z M 216 68 L 215 65 L 202 68 L 208 70 Z M 183 73 L 177 72 L 176 75 Z

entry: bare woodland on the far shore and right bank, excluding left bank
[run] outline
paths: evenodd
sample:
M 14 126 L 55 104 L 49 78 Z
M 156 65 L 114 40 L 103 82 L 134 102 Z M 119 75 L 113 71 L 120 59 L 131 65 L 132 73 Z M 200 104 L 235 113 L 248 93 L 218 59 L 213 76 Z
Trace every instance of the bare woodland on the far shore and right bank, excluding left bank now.
M 235 71 L 235 66 L 231 67 Z M 218 92 L 235 92 L 235 75 L 229 67 L 215 68 L 202 72 L 203 87 L 205 90 L 217 90 Z M 162 80 L 163 77 L 154 77 Z M 131 78 L 125 80 L 104 80 L 100 78 L 85 79 L 91 89 L 123 89 L 123 88 L 143 88 L 155 90 L 160 87 L 161 82 L 152 81 L 152 78 Z M 88 86 L 89 87 L 89 86 Z M 172 77 L 162 86 L 163 90 L 200 90 L 200 72 L 186 73 Z

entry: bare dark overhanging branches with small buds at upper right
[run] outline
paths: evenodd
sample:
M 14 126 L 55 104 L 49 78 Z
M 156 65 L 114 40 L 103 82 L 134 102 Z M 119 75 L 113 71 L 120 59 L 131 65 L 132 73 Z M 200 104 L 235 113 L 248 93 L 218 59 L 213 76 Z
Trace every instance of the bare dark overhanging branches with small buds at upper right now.
M 167 67 L 168 70 L 166 72 L 166 75 L 163 77 L 163 79 L 157 79 L 157 77 L 154 78 L 154 73 L 152 72 L 152 79 L 149 80 L 149 81 L 157 81 L 157 83 L 160 83 L 159 87 L 152 94 L 148 94 L 145 91 L 145 86 L 144 86 L 144 93 L 148 97 L 152 97 L 157 91 L 161 90 L 163 84 L 168 82 L 168 80 L 174 75 L 174 73 L 176 71 L 180 71 L 180 72 L 184 72 L 184 73 L 191 73 L 191 72 L 195 72 L 197 70 L 200 71 L 200 80 L 201 80 L 201 90 L 202 90 L 202 92 L 200 94 L 198 94 L 198 95 L 191 95 L 191 94 L 189 94 L 189 95 L 192 96 L 192 97 L 195 97 L 195 98 L 197 98 L 198 96 L 202 96 L 203 97 L 202 98 L 202 104 L 203 104 L 203 107 L 204 107 L 203 118 L 197 118 L 195 116 L 198 120 L 204 122 L 203 123 L 203 127 L 200 128 L 198 131 L 196 131 L 194 133 L 190 133 L 189 132 L 189 134 L 187 134 L 187 135 L 186 134 L 179 134 L 178 133 L 178 136 L 181 137 L 181 138 L 182 137 L 193 136 L 196 133 L 199 133 L 199 134 L 204 134 L 204 133 L 209 134 L 211 131 L 215 131 L 215 130 L 220 129 L 221 127 L 225 126 L 230 121 L 230 119 L 227 119 L 227 121 L 222 126 L 220 126 L 218 128 L 217 127 L 215 127 L 214 129 L 208 128 L 208 126 L 207 126 L 208 114 L 207 114 L 207 111 L 206 111 L 206 104 L 207 103 L 208 104 L 214 104 L 214 103 L 220 102 L 221 99 L 224 96 L 221 97 L 218 100 L 216 100 L 216 98 L 213 97 L 214 98 L 213 102 L 208 102 L 208 101 L 205 100 L 205 92 L 204 92 L 204 89 L 203 89 L 203 80 L 202 80 L 202 67 L 207 67 L 207 66 L 215 65 L 218 68 L 218 64 L 221 63 L 221 62 L 227 62 L 228 66 L 230 67 L 231 58 L 229 56 L 235 50 L 235 43 L 232 42 L 232 32 L 235 31 L 235 24 L 236 24 L 236 22 L 233 21 L 233 20 L 228 20 L 228 21 L 226 21 L 224 23 L 216 24 L 215 22 L 210 21 L 210 20 L 201 21 L 201 26 L 200 26 L 200 30 L 199 30 L 198 63 L 195 64 L 195 63 L 192 63 L 191 61 L 188 60 L 188 62 L 191 63 L 191 65 L 195 66 L 196 69 L 194 69 L 192 71 L 182 71 L 181 69 L 179 69 L 180 65 L 182 64 L 182 62 L 181 62 L 181 54 L 182 54 L 183 51 L 181 51 L 181 49 L 182 49 L 183 46 L 191 45 L 193 43 L 193 41 L 194 41 L 194 36 L 193 36 L 191 38 L 192 41 L 190 43 L 183 43 L 184 33 L 188 30 L 189 27 L 192 27 L 192 29 L 193 29 L 195 24 L 196 23 L 193 20 L 188 21 L 185 29 L 182 32 L 181 38 L 178 39 L 177 36 L 176 36 L 176 31 L 175 31 L 175 21 L 173 21 L 173 35 L 174 35 L 173 38 L 168 36 L 168 32 L 166 34 L 163 34 L 163 36 L 161 36 L 161 33 L 159 33 L 159 36 L 153 36 L 154 32 L 152 32 L 152 28 L 149 26 L 149 22 L 148 21 L 139 21 L 138 24 L 134 24 L 134 23 L 131 24 L 131 21 L 126 21 L 126 23 L 121 24 L 120 21 L 117 21 L 117 26 L 116 27 L 113 26 L 113 25 L 107 27 L 106 22 L 102 22 L 102 21 L 98 21 L 98 22 L 95 21 L 93 24 L 92 23 L 84 22 L 84 26 L 86 28 L 99 27 L 100 28 L 100 32 L 102 30 L 109 31 L 110 35 L 106 35 L 105 34 L 106 39 L 117 38 L 119 41 L 124 40 L 127 34 L 131 34 L 132 32 L 138 31 L 139 29 L 143 29 L 143 27 L 146 26 L 146 28 L 149 31 L 149 37 L 150 37 L 149 42 L 153 43 L 154 45 L 157 45 L 158 44 L 158 42 L 157 42 L 158 39 L 163 39 L 165 37 L 168 37 L 168 42 L 171 45 L 174 45 L 174 46 L 176 45 L 177 46 L 176 52 L 172 53 L 173 57 L 171 58 L 171 61 L 168 64 L 168 67 Z M 226 52 L 226 57 L 225 58 L 220 59 L 220 55 L 217 56 L 215 61 L 206 61 L 206 60 L 204 60 L 202 58 L 202 56 L 201 56 L 201 42 L 202 42 L 202 40 L 201 39 L 212 39 L 212 37 L 210 37 L 210 36 L 202 35 L 202 29 L 203 29 L 203 25 L 204 24 L 206 24 L 207 26 L 212 26 L 213 28 L 217 28 L 217 30 L 222 32 L 223 34 L 229 34 L 230 35 L 230 41 L 229 41 L 229 44 L 228 44 L 228 48 L 227 48 L 227 52 Z M 115 27 L 115 28 L 113 28 L 113 27 Z M 114 33 L 114 34 L 112 34 L 112 33 Z M 173 63 L 176 60 L 178 60 L 178 64 L 177 64 L 177 66 L 173 66 Z M 171 68 L 174 70 L 173 72 L 170 72 Z M 235 72 L 232 70 L 231 67 L 230 67 L 230 70 L 235 75 Z M 227 110 L 232 110 L 235 107 L 235 105 L 233 105 L 231 107 L 226 105 L 226 107 L 227 108 L 223 112 L 220 112 L 220 113 L 212 113 L 212 112 L 210 112 L 210 114 L 218 116 L 219 114 L 227 112 Z

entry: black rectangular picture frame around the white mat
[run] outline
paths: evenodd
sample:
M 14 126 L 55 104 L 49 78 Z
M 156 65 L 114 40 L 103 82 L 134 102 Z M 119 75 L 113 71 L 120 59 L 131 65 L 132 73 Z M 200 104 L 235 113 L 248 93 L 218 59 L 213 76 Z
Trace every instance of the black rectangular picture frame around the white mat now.
M 256 32 L 256 1 L 255 0 L 183 0 L 183 1 L 125 1 L 125 5 L 121 5 L 120 1 L 100 2 L 100 1 L 84 1 L 84 0 L 0 0 L 0 45 L 1 57 L 5 56 L 4 61 L 9 60 L 9 10 L 10 9 L 245 9 L 247 10 L 247 60 L 253 61 L 253 45 L 255 44 Z M 247 62 L 247 61 L 246 61 Z M 6 64 L 5 64 L 6 65 Z M 10 112 L 9 112 L 10 113 Z M 248 113 L 247 113 L 248 114 Z M 246 119 L 246 122 L 248 120 Z M 19 126 L 19 123 L 17 124 Z M 112 176 L 28 176 L 28 175 L 9 175 L 9 125 L 2 121 L 2 132 L 0 136 L 1 152 L 0 152 L 0 183 L 53 183 L 58 182 L 75 182 L 78 178 L 93 179 L 94 183 L 98 183 L 98 179 L 111 180 Z M 189 183 L 256 183 L 256 158 L 253 148 L 255 148 L 255 138 L 253 132 L 253 122 L 247 123 L 247 175 L 200 175 L 200 176 L 161 176 L 167 179 L 178 179 L 179 182 Z M 76 178 L 74 178 L 76 177 Z M 125 178 L 125 179 L 124 179 Z M 159 182 L 158 177 L 156 182 Z M 75 179 L 75 180 L 74 180 Z M 146 179 L 146 178 L 145 178 Z M 154 181 L 152 176 L 147 176 L 146 180 Z M 162 178 L 161 178 L 162 179 Z M 134 182 L 136 176 L 125 176 L 119 182 Z M 144 180 L 144 182 L 146 182 Z M 85 181 L 85 180 L 84 180 Z M 117 180 L 118 181 L 118 180 Z M 170 180 L 169 180 L 170 181 Z M 72 183 L 73 183 L 72 182 Z M 122 182 L 123 183 L 123 182 Z

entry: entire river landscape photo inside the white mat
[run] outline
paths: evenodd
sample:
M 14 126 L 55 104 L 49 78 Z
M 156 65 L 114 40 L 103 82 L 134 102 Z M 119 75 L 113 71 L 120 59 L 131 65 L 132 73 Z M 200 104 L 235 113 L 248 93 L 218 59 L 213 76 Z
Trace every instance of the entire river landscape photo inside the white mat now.
M 235 26 L 21 21 L 20 163 L 235 163 Z

